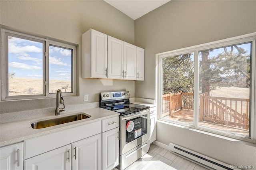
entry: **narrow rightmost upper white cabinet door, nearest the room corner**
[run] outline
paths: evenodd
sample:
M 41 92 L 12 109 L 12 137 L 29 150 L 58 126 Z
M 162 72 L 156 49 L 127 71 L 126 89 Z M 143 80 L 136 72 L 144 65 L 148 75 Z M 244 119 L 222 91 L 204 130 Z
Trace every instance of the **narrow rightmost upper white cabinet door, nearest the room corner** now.
M 145 50 L 136 47 L 136 80 L 144 81 Z

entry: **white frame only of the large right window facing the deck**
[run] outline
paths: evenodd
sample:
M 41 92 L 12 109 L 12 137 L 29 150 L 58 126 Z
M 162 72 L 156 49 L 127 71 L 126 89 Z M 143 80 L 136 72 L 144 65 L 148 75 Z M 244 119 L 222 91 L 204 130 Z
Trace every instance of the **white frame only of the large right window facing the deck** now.
M 194 94 L 199 94 L 199 51 L 214 49 L 218 47 L 225 47 L 229 45 L 235 45 L 240 43 L 252 42 L 252 56 L 251 56 L 251 85 L 250 85 L 250 138 L 246 138 L 245 136 L 239 136 L 238 134 L 230 134 L 228 132 L 201 127 L 198 125 L 199 122 L 199 95 L 194 95 L 194 121 L 193 125 L 188 125 L 186 123 L 182 123 L 179 121 L 162 118 L 162 58 L 174 55 L 180 55 L 184 53 L 194 52 Z M 256 32 L 251 34 L 246 34 L 242 36 L 237 36 L 233 38 L 228 38 L 224 40 L 219 40 L 210 43 L 204 43 L 200 45 L 194 45 L 191 47 L 186 47 L 182 49 L 176 49 L 172 51 L 167 51 L 163 53 L 156 54 L 156 103 L 158 109 L 158 120 L 165 121 L 168 123 L 173 123 L 177 125 L 182 125 L 185 127 L 194 128 L 197 130 L 202 130 L 206 132 L 210 132 L 213 134 L 218 134 L 222 136 L 227 136 L 231 138 L 236 138 L 239 140 L 244 140 L 248 142 L 256 143 Z

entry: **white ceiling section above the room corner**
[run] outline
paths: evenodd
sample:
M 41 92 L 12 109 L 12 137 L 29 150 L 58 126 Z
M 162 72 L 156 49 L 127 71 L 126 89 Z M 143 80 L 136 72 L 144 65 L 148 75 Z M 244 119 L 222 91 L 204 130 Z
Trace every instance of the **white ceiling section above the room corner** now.
M 104 0 L 133 20 L 162 6 L 170 0 Z

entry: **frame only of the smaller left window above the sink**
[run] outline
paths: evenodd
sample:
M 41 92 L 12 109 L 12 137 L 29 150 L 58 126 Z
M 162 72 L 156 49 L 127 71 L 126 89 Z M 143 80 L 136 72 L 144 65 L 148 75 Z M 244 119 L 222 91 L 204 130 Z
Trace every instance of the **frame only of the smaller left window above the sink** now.
M 23 38 L 25 40 L 32 40 L 35 42 L 43 43 L 43 93 L 42 95 L 8 95 L 8 36 L 15 36 L 17 38 Z M 71 93 L 62 93 L 63 96 L 76 96 L 76 46 L 72 43 L 66 43 L 58 40 L 50 40 L 48 38 L 41 38 L 38 36 L 32 36 L 12 30 L 6 30 L 1 28 L 1 101 L 13 101 L 13 100 L 28 100 L 28 99 L 44 99 L 56 97 L 56 93 L 49 93 L 49 45 L 58 46 L 62 48 L 72 49 L 72 89 Z

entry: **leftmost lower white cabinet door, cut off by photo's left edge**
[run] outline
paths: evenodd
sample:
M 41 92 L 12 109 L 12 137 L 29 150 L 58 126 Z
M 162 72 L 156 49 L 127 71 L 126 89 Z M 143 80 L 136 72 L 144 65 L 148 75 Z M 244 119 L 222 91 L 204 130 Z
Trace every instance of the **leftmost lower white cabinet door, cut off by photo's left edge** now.
M 23 142 L 0 148 L 1 170 L 23 170 Z

